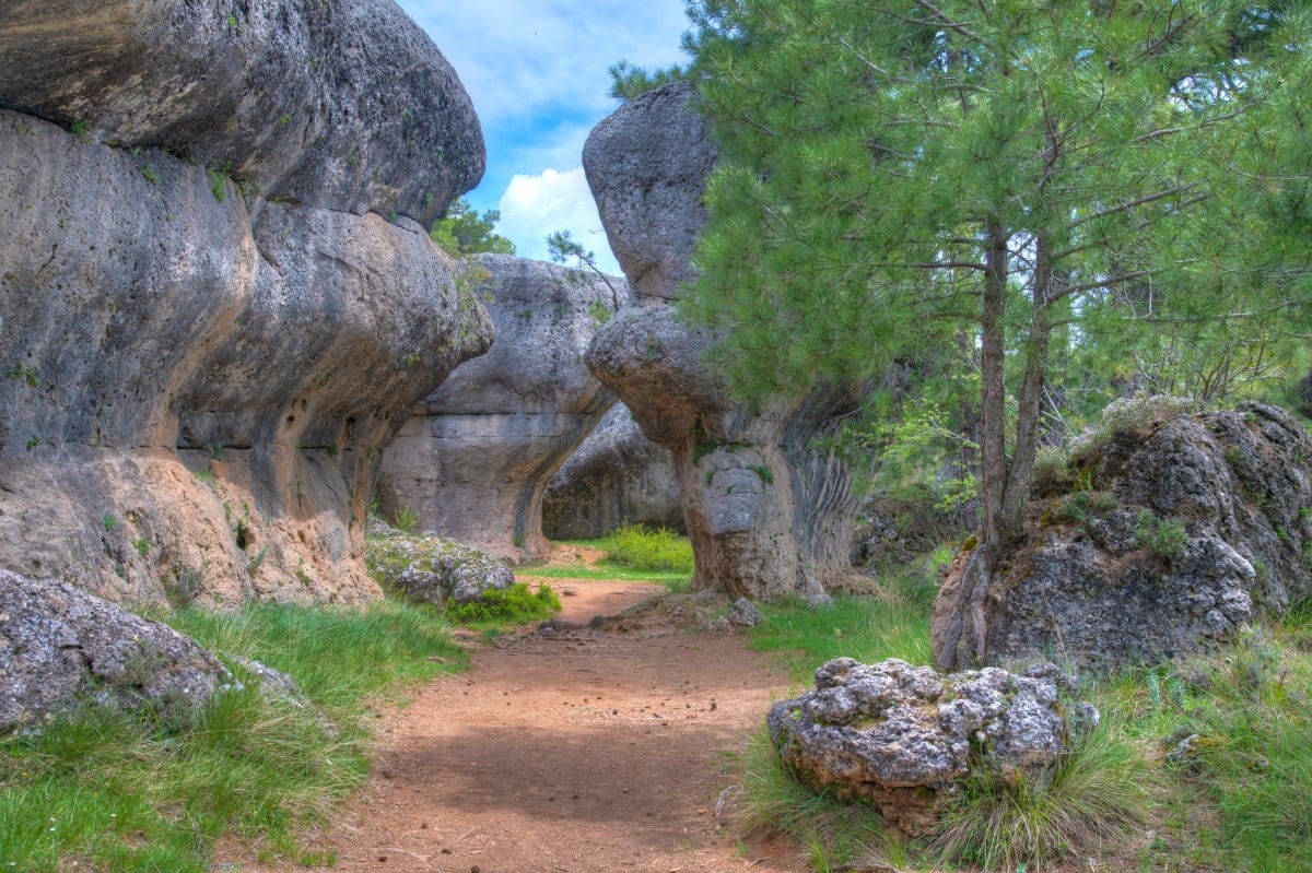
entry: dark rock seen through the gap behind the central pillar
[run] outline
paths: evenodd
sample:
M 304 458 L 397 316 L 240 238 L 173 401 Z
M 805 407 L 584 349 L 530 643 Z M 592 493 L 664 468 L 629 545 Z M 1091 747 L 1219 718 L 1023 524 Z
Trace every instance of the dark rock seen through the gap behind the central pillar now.
M 686 532 L 669 450 L 643 436 L 628 408 L 615 404 L 547 482 L 542 532 L 586 540 L 625 524 Z

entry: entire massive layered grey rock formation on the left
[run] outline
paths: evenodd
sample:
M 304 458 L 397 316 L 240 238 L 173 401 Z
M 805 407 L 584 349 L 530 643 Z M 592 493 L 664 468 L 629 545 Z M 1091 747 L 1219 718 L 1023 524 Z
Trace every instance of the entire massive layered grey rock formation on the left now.
M 491 338 L 399 218 L 482 173 L 445 59 L 390 0 L 22 3 L 0 83 L 0 566 L 377 595 L 382 447 Z

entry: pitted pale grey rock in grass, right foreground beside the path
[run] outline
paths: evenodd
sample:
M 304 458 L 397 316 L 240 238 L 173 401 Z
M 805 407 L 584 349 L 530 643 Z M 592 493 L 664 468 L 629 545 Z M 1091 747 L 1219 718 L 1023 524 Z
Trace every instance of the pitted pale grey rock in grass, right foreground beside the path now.
M 1068 700 L 1075 689 L 1052 665 L 942 676 L 897 659 L 836 658 L 816 670 L 815 691 L 770 707 L 768 722 L 802 781 L 866 800 L 917 836 L 970 779 L 1044 788 L 1098 721 L 1092 704 Z

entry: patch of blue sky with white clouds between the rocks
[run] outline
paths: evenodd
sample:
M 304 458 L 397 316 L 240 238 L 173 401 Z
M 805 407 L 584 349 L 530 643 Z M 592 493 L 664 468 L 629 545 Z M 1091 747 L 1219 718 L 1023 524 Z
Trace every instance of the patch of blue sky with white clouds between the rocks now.
M 488 169 L 467 198 L 501 210 L 520 254 L 568 229 L 619 273 L 583 176 L 583 143 L 615 110 L 606 68 L 685 60 L 682 0 L 398 0 L 455 67 L 483 122 Z

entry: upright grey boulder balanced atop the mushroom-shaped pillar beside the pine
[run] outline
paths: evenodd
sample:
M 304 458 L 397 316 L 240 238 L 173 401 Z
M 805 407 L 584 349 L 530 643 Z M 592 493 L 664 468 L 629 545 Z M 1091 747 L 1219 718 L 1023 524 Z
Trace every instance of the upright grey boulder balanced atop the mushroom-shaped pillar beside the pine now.
M 606 239 L 639 298 L 673 300 L 694 277 L 689 256 L 719 153 L 706 119 L 690 109 L 694 96 L 691 83 L 674 83 L 635 97 L 584 146 Z

